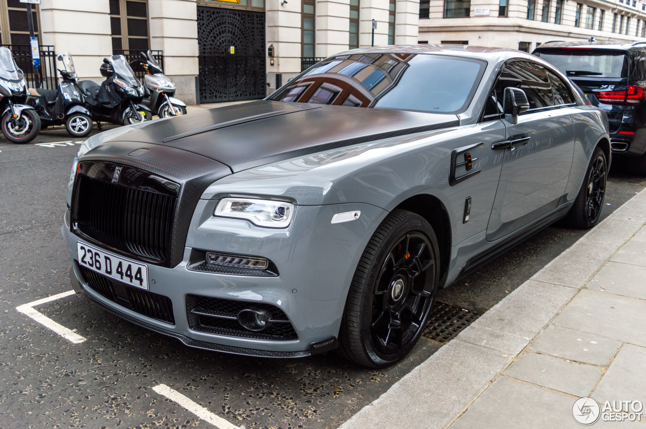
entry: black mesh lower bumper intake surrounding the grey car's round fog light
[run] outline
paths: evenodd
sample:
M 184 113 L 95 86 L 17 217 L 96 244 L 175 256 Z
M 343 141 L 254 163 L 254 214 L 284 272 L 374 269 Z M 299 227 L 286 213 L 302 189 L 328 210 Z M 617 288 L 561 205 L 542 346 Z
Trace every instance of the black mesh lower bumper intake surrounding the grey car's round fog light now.
M 271 325 L 261 332 L 245 329 L 236 317 L 242 310 L 266 310 Z M 248 303 L 231 299 L 187 295 L 186 310 L 192 330 L 231 337 L 288 341 L 298 339 L 289 317 L 280 308 L 266 303 Z

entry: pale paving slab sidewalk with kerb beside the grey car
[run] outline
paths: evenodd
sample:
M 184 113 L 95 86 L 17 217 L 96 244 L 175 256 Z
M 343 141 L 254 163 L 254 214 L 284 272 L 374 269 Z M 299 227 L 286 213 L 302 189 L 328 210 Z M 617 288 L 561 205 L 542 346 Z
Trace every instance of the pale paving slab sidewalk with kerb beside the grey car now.
M 579 397 L 646 404 L 645 223 L 643 190 L 340 429 L 578 428 Z

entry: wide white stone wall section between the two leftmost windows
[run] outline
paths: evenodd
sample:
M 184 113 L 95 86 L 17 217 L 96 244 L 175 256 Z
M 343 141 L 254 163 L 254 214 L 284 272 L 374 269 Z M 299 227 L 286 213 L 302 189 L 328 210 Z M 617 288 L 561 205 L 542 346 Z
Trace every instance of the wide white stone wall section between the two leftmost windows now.
M 79 79 L 103 80 L 99 67 L 112 55 L 109 0 L 43 0 L 41 45 L 69 52 Z

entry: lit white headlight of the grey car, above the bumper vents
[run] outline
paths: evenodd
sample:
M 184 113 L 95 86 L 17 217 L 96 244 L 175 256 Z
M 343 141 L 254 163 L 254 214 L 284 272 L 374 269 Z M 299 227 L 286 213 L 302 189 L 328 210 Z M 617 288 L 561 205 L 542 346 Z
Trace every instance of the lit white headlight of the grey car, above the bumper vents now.
M 251 198 L 223 198 L 214 216 L 246 219 L 267 228 L 286 228 L 294 214 L 294 205 L 284 201 Z

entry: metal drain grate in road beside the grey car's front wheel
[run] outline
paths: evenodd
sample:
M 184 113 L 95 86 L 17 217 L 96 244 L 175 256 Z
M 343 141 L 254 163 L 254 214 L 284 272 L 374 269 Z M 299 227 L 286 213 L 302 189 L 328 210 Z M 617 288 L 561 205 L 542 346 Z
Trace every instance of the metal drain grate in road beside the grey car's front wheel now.
M 477 313 L 435 301 L 422 335 L 439 343 L 448 343 L 478 317 Z

